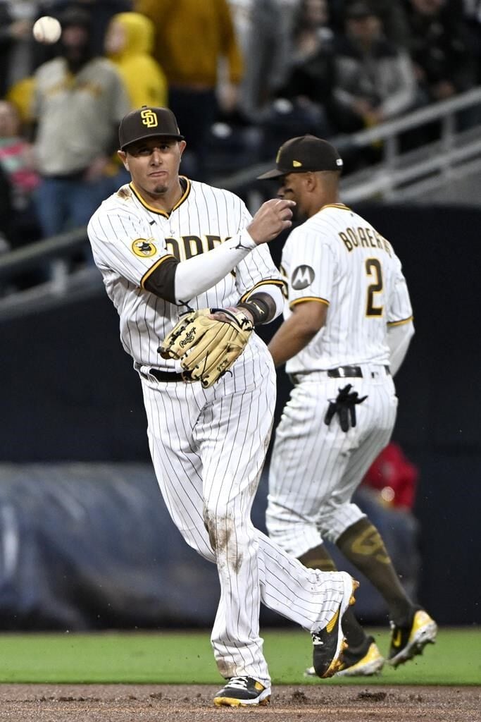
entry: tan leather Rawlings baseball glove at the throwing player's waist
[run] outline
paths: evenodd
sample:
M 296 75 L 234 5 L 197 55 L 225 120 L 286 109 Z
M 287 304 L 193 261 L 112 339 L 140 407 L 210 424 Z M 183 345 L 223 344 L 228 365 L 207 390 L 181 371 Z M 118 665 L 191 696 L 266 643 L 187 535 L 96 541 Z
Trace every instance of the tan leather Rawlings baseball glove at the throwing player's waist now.
M 254 324 L 240 308 L 202 308 L 182 316 L 159 353 L 180 360 L 186 381 L 212 386 L 244 351 Z

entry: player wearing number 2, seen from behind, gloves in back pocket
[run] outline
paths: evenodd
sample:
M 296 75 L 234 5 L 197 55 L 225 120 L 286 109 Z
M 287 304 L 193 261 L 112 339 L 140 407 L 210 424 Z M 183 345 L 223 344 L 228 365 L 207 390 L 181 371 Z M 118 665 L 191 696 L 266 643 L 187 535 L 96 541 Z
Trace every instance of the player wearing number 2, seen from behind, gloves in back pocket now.
M 389 442 L 397 411 L 393 375 L 414 328 L 401 264 L 369 222 L 340 203 L 337 150 L 314 136 L 278 152 L 278 197 L 306 221 L 283 248 L 284 322 L 268 348 L 294 388 L 275 432 L 267 526 L 271 539 L 308 567 L 334 570 L 328 539 L 379 590 L 389 607 L 389 664 L 434 642 L 436 624 L 407 598 L 384 542 L 351 497 Z M 343 676 L 384 664 L 352 610 L 345 618 Z M 309 672 L 309 671 L 308 671 Z

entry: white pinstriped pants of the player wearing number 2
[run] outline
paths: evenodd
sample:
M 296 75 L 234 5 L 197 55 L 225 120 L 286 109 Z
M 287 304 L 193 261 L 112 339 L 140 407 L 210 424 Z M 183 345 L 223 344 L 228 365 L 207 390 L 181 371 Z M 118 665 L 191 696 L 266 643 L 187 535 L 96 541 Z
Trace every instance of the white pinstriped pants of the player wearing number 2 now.
M 389 443 L 397 396 L 383 366 L 361 367 L 363 378 L 298 375 L 275 431 L 266 523 L 270 538 L 295 557 L 319 546 L 323 537 L 337 541 L 365 516 L 350 500 Z M 329 400 L 347 383 L 368 398 L 356 406 L 356 427 L 343 432 L 337 415 L 329 426 L 324 417 Z

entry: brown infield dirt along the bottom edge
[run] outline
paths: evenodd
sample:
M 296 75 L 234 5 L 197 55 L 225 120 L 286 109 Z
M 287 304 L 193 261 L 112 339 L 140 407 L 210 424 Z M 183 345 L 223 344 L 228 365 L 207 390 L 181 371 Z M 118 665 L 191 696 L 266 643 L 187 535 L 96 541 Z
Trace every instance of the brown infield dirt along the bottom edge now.
M 214 708 L 211 685 L 0 684 L 0 721 L 480 722 L 480 687 L 275 687 L 271 704 Z

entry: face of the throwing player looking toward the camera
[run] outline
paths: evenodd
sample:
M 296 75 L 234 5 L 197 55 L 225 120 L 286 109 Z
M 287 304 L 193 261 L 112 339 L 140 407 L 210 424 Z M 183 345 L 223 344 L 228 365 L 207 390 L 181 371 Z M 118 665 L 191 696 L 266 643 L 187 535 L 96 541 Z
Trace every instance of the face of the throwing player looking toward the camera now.
M 172 138 L 149 138 L 131 144 L 120 158 L 132 181 L 149 196 L 166 196 L 177 188 L 179 165 L 185 141 Z

